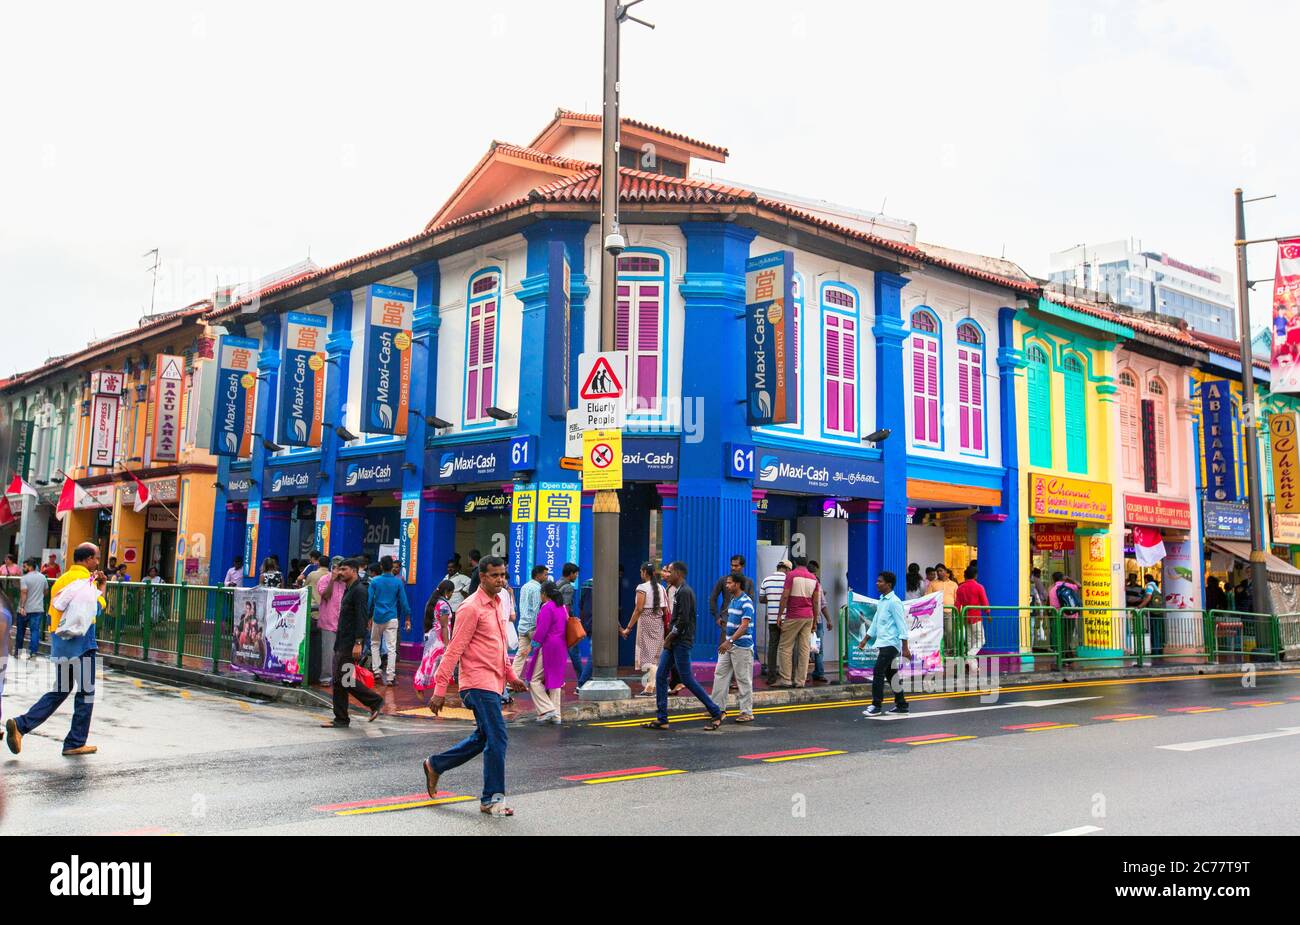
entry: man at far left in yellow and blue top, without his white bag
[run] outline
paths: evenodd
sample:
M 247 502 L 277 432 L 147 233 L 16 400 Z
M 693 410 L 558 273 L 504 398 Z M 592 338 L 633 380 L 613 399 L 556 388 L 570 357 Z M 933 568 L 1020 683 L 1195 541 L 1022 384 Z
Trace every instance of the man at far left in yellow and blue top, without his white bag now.
M 95 624 L 90 625 L 84 635 L 65 639 L 57 634 L 58 620 L 62 611 L 55 608 L 58 594 L 72 582 L 91 578 L 99 586 L 99 612 L 103 613 L 108 603 L 104 600 L 104 585 L 107 578 L 99 570 L 99 547 L 94 543 L 82 543 L 73 552 L 73 565 L 58 577 L 49 591 L 49 657 L 55 663 L 55 689 L 36 700 L 22 716 L 6 720 L 5 744 L 14 755 L 22 751 L 22 737 L 48 720 L 68 695 L 77 689 L 73 702 L 73 725 L 64 739 L 64 756 L 75 757 L 81 755 L 94 755 L 99 751 L 95 746 L 86 744 L 90 735 L 90 717 L 95 709 Z

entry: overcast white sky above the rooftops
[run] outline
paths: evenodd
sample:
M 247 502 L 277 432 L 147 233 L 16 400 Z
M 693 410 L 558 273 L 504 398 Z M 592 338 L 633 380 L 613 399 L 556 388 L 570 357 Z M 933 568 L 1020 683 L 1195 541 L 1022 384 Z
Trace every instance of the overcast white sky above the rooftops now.
M 494 138 L 599 112 L 601 0 L 10 4 L 0 375 L 222 282 L 419 231 Z M 129 13 L 125 10 L 130 10 Z M 1300 4 L 647 0 L 623 113 L 718 174 L 919 225 L 1046 274 L 1127 236 L 1234 266 L 1300 233 Z M 1252 248 L 1271 278 L 1274 248 Z M 1256 323 L 1269 286 L 1256 287 Z

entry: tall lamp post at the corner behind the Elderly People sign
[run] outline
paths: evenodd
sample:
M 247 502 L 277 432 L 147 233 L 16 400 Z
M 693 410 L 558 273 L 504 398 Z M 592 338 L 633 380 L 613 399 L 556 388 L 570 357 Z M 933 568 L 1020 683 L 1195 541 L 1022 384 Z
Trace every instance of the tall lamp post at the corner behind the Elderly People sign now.
M 601 109 L 601 351 L 615 349 L 615 304 L 618 259 L 623 251 L 619 231 L 619 26 L 624 19 L 653 25 L 628 16 L 641 3 L 604 0 L 604 94 Z M 619 681 L 619 492 L 597 491 L 592 501 L 592 679 L 578 696 L 584 700 L 620 700 L 632 694 Z

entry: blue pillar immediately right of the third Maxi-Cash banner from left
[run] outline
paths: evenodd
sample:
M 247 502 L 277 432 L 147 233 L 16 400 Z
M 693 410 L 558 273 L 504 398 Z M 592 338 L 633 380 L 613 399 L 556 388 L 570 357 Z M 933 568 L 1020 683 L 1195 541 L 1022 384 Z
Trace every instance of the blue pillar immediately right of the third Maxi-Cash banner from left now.
M 443 566 L 447 561 L 447 555 L 442 555 L 441 560 L 434 557 L 432 563 L 426 560 L 437 540 L 433 534 L 426 533 L 424 522 L 424 509 L 428 505 L 428 499 L 424 498 L 424 448 L 429 438 L 429 425 L 425 418 L 434 414 L 438 405 L 438 329 L 442 325 L 438 299 L 442 277 L 437 261 L 420 264 L 412 273 L 415 273 L 415 321 L 411 349 L 415 353 L 411 360 L 411 413 L 407 416 L 403 452 L 406 465 L 402 469 L 402 503 L 403 507 L 412 503 L 419 505 L 420 522 L 415 543 L 415 568 L 412 569 L 410 563 L 403 563 L 403 566 L 408 576 L 407 596 L 411 599 L 411 608 L 416 613 L 422 613 L 425 602 L 446 574 Z M 410 581 L 412 573 L 413 582 Z M 424 638 L 424 624 L 412 620 L 410 633 L 400 627 L 398 631 L 403 642 L 419 643 Z

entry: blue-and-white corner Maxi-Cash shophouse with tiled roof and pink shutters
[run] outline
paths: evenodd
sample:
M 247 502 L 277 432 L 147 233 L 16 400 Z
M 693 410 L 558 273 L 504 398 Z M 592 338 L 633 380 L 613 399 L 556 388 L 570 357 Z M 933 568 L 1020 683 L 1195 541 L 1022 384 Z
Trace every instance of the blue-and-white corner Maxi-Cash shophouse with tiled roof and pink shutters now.
M 623 146 L 654 146 L 663 171 L 620 171 L 616 339 L 640 403 L 624 433 L 623 616 L 647 559 L 685 561 L 703 596 L 732 553 L 759 577 L 794 543 L 842 603 L 883 568 L 902 578 L 909 520 L 923 509 L 968 521 L 991 594 L 1014 600 L 1020 478 L 1002 421 L 1015 420 L 1017 304 L 1036 285 L 793 197 L 682 177 L 724 162 L 719 146 L 630 120 Z M 575 491 L 560 460 L 578 355 L 598 347 L 598 152 L 599 118 L 562 110 L 529 146 L 494 144 L 416 236 L 209 316 L 256 343 L 252 430 L 272 446 L 291 442 L 277 413 L 289 313 L 316 316 L 326 333 L 320 446 L 254 439 L 248 457 L 221 457 L 212 533 L 222 568 L 234 555 L 285 563 L 312 546 L 374 555 L 395 539 L 417 605 L 469 548 L 506 553 L 515 581 L 537 560 L 573 559 L 590 574 L 592 495 Z M 776 251 L 790 252 L 796 274 L 800 413 L 755 427 L 745 261 Z M 376 286 L 413 301 L 402 435 L 367 433 L 360 400 Z M 867 444 L 878 430 L 890 435 Z M 753 451 L 751 472 L 729 465 L 736 450 Z M 542 498 L 563 513 L 546 517 Z M 413 627 L 403 642 L 419 638 Z M 702 639 L 696 656 L 712 653 Z

